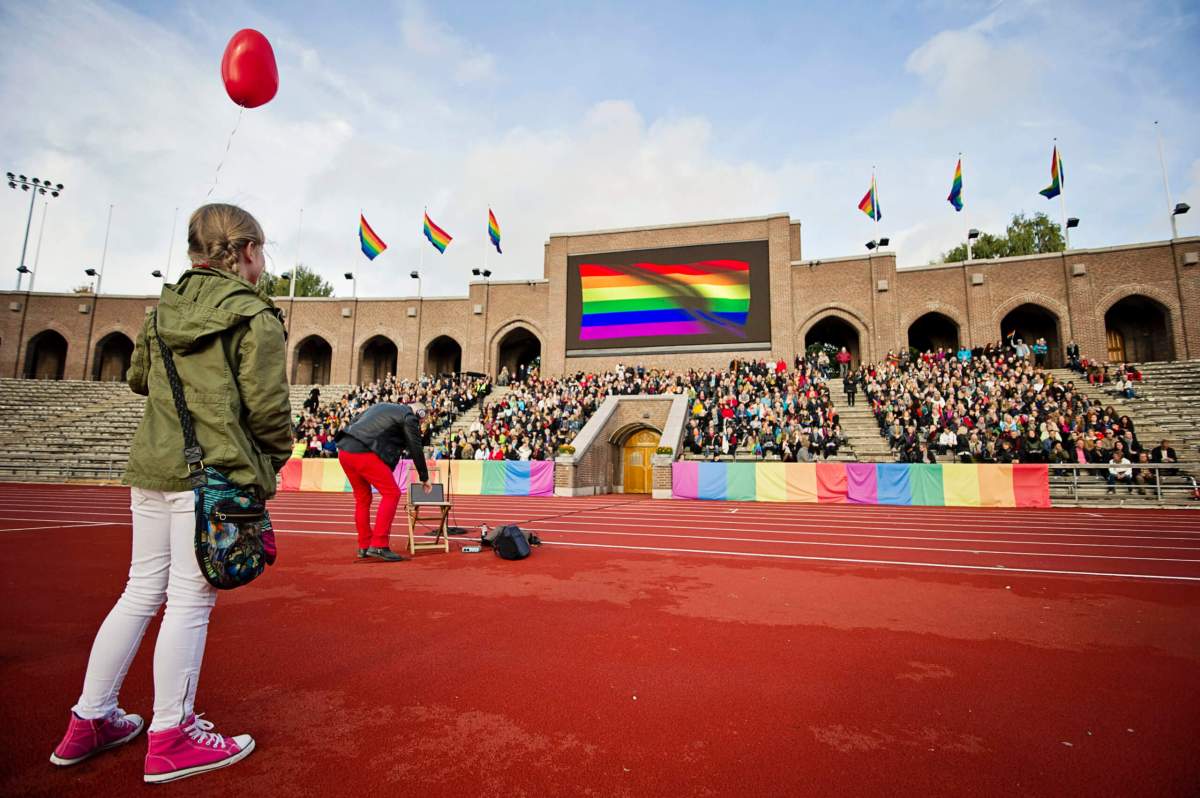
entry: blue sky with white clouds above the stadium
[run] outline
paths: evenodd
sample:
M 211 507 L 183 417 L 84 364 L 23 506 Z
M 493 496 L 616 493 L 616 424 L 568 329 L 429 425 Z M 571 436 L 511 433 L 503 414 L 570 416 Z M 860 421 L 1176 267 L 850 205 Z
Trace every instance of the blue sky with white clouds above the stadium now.
M 220 64 L 241 28 L 280 91 L 239 118 Z M 1073 246 L 1164 240 L 1156 121 L 1171 202 L 1196 208 L 1180 234 L 1200 234 L 1196 4 L 0 0 L 0 29 L 5 170 L 65 185 L 35 206 L 37 290 L 103 260 L 103 293 L 157 292 L 206 197 L 254 214 L 272 271 L 299 260 L 338 295 L 347 271 L 360 296 L 413 295 L 413 269 L 463 295 L 484 265 L 540 278 L 552 233 L 778 212 L 804 258 L 886 235 L 920 265 L 1015 212 L 1060 220 L 1038 194 L 1056 139 Z M 857 209 L 872 169 L 880 222 Z M 2 199 L 8 289 L 29 196 Z M 389 245 L 373 262 L 360 212 Z

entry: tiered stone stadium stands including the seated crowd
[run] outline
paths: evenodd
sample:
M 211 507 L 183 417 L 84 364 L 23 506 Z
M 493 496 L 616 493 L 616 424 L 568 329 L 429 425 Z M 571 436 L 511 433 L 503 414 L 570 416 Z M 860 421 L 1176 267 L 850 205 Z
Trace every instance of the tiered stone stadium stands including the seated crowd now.
M 954 462 L 966 456 L 964 446 L 944 446 L 941 433 L 950 428 L 958 436 L 966 425 L 967 440 L 972 430 L 980 438 L 974 450 L 966 446 L 974 462 L 989 457 L 1049 462 L 1056 500 L 1182 503 L 1190 499 L 1190 473 L 1160 474 L 1168 496 L 1153 490 L 1142 494 L 1136 490 L 1140 485 L 1123 484 L 1110 494 L 1106 469 L 1055 469 L 1062 457 L 1055 462 L 1046 455 L 1045 440 L 1062 439 L 1064 451 L 1074 455 L 1069 462 L 1078 461 L 1074 444 L 1080 443 L 1090 452 L 1086 460 L 1103 463 L 1105 455 L 1097 452 L 1121 442 L 1129 428 L 1135 451 L 1148 451 L 1168 438 L 1180 460 L 1200 461 L 1190 433 L 1200 422 L 1194 409 L 1200 398 L 1200 362 L 1139 368 L 1144 380 L 1132 400 L 1115 395 L 1114 385 L 1090 384 L 1068 370 L 1040 370 L 1006 356 L 960 364 L 953 356 L 932 354 L 852 374 L 862 384 L 853 406 L 840 378 L 799 360 L 791 366 L 733 361 L 726 370 L 686 373 L 618 367 L 554 379 L 541 378 L 533 368 L 522 378 L 505 380 L 504 386 L 493 386 L 478 374 L 425 379 L 418 385 L 388 378 L 365 386 L 322 385 L 316 406 L 311 401 L 314 386 L 295 385 L 290 400 L 298 442 L 311 456 L 331 456 L 325 442 L 376 401 L 425 401 L 431 408 L 426 444 L 432 457 L 551 460 L 607 396 L 684 394 L 691 408 L 684 450 L 678 452 L 684 458 L 913 460 L 924 442 L 937 462 Z M 944 397 L 940 398 L 944 391 L 954 392 L 955 404 L 961 402 L 965 413 L 956 406 L 947 409 Z M 0 380 L 0 478 L 116 481 L 142 404 L 143 398 L 122 383 Z M 1031 418 L 1033 438 L 1027 434 Z M 893 436 L 890 443 L 881 434 L 889 419 L 902 421 L 902 434 Z M 1000 434 L 1002 425 L 1015 430 Z M 1109 431 L 1111 437 L 1103 434 Z M 1021 440 L 1012 454 L 1004 450 L 1004 437 Z M 802 439 L 805 445 L 797 446 Z M 1099 443 L 1092 446 L 1086 440 Z M 1000 454 L 989 454 L 988 443 Z

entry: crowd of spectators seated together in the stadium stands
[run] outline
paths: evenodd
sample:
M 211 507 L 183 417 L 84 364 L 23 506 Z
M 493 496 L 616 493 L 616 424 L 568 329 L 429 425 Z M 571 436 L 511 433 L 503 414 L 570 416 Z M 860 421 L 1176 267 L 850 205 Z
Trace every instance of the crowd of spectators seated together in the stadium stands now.
M 361 410 L 376 402 L 421 401 L 433 458 L 552 460 L 606 397 L 674 394 L 688 397 L 684 454 L 812 462 L 836 457 L 846 445 L 827 385 L 840 376 L 847 402 L 863 395 L 901 462 L 1109 463 L 1110 490 L 1130 491 L 1153 480 L 1139 462 L 1176 462 L 1169 442 L 1144 446 L 1129 416 L 1080 394 L 1074 382 L 1056 380 L 1044 367 L 1044 343 L 1026 346 L 1014 337 L 974 349 L 902 350 L 858 368 L 845 349 L 822 347 L 791 367 L 782 360 L 733 360 L 727 368 L 686 372 L 617 365 L 545 378 L 535 364 L 505 370 L 498 383 L 508 390 L 496 398 L 491 383 L 478 376 L 416 383 L 389 377 L 328 403 L 313 389 L 296 420 L 298 440 L 306 457 L 336 456 L 334 437 Z M 1076 372 L 1096 373 L 1074 342 L 1066 354 Z M 1123 366 L 1097 373 L 1122 390 L 1140 377 Z M 476 402 L 479 418 L 452 428 Z

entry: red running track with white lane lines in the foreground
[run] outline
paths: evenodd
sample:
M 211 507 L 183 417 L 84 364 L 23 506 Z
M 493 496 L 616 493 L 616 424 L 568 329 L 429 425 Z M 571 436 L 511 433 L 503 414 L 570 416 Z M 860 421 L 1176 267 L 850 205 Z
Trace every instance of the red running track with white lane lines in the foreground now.
M 0 794 L 47 762 L 128 557 L 127 492 L 0 485 Z M 353 499 L 271 504 L 199 708 L 258 750 L 164 792 L 1190 796 L 1200 515 L 466 497 L 546 541 L 353 559 Z M 398 548 L 400 524 L 394 542 Z M 149 635 L 155 634 L 152 626 Z M 148 643 L 122 694 L 151 702 Z M 248 793 L 253 794 L 253 793 Z

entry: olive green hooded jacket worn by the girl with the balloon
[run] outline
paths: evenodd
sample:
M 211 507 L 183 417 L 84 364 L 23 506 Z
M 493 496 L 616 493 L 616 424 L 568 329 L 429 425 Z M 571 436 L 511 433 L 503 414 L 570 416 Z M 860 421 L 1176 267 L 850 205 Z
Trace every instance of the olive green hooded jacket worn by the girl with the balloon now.
M 292 406 L 283 325 L 275 304 L 238 275 L 190 269 L 164 286 L 133 349 L 128 382 L 148 396 L 124 482 L 187 491 L 184 433 L 155 338 L 170 347 L 204 464 L 233 482 L 275 496 L 275 475 L 292 455 Z

